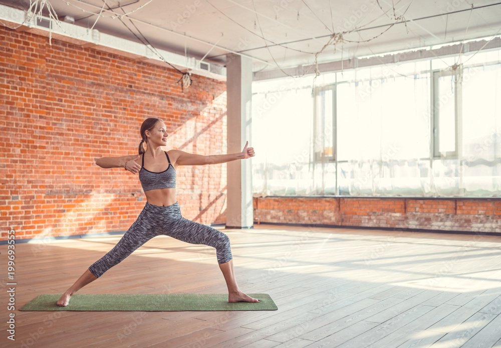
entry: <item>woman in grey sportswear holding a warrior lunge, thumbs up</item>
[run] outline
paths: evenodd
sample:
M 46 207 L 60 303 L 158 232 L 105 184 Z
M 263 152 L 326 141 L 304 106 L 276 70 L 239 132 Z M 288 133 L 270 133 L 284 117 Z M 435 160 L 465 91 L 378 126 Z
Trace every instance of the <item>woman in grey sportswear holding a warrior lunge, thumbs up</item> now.
M 175 192 L 176 168 L 179 165 L 216 164 L 250 158 L 254 156 L 254 149 L 247 147 L 247 142 L 242 152 L 231 154 L 205 156 L 180 150 L 164 151 L 161 146 L 167 144 L 167 136 L 165 124 L 161 119 L 147 118 L 141 125 L 142 140 L 139 144 L 139 155 L 102 157 L 96 160 L 96 164 L 102 168 L 124 167 L 131 173 L 139 173 L 139 181 L 146 195 L 146 205 L 117 245 L 94 262 L 61 295 L 57 303 L 59 306 L 68 305 L 70 297 L 75 292 L 99 278 L 135 249 L 160 234 L 192 244 L 214 247 L 219 268 L 228 287 L 228 301 L 259 302 L 259 299 L 247 296 L 238 288 L 228 236 L 215 228 L 182 217 Z

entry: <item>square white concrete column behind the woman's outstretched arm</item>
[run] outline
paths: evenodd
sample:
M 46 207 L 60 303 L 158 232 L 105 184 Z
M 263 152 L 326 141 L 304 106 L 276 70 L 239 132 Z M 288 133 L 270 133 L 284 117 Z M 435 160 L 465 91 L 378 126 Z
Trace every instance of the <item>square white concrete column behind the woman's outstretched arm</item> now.
M 237 54 L 226 57 L 228 153 L 240 152 L 248 140 L 252 145 L 252 60 Z M 252 228 L 254 209 L 251 159 L 227 163 L 226 228 Z

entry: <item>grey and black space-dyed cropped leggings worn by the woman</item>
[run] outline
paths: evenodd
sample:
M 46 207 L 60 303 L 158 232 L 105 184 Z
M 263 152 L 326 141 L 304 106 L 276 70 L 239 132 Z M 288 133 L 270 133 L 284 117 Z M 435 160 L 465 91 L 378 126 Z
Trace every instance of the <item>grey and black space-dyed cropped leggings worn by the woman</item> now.
M 179 204 L 168 206 L 146 202 L 143 210 L 122 239 L 106 255 L 94 262 L 89 270 L 100 277 L 108 269 L 120 263 L 135 249 L 151 238 L 164 234 L 192 244 L 205 244 L 216 249 L 217 262 L 232 259 L 229 238 L 223 232 L 210 226 L 190 221 L 181 215 Z

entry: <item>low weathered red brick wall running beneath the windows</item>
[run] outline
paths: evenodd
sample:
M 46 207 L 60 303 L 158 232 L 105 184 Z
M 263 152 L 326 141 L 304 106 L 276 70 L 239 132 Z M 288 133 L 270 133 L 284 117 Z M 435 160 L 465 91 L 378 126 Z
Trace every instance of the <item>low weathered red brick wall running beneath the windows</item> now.
M 260 222 L 501 232 L 499 199 L 254 198 Z

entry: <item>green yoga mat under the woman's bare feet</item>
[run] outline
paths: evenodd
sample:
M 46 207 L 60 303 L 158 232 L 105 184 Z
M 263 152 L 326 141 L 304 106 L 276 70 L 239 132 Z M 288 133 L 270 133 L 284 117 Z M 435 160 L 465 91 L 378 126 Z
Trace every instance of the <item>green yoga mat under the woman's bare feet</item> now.
M 178 310 L 277 310 L 277 305 L 266 293 L 249 293 L 261 302 L 229 303 L 228 295 L 223 293 L 76 293 L 70 304 L 60 307 L 56 304 L 61 294 L 45 293 L 37 296 L 20 310 L 141 310 L 141 311 L 178 311 Z

